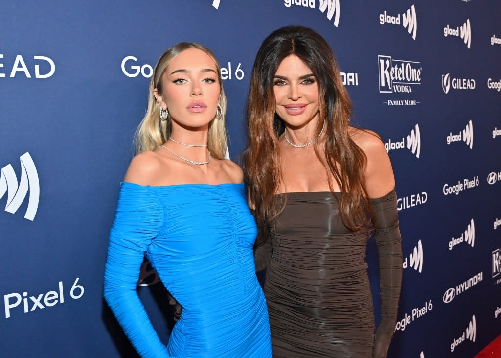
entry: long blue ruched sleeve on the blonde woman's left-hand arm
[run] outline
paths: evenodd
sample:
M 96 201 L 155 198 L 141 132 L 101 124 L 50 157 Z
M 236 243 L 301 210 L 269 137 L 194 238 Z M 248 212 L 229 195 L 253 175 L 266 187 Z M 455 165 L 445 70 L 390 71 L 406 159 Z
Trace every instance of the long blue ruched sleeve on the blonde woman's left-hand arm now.
M 151 188 L 122 183 L 110 232 L 104 298 L 142 357 L 169 357 L 136 292 L 144 254 L 162 227 L 162 207 Z

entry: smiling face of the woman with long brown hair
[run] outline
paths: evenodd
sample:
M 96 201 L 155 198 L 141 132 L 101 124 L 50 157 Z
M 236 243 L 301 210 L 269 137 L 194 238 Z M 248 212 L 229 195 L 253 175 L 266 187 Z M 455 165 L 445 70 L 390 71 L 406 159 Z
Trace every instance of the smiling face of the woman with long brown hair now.
M 277 114 L 290 126 L 302 127 L 318 120 L 317 79 L 312 70 L 296 55 L 286 57 L 274 77 L 273 90 Z

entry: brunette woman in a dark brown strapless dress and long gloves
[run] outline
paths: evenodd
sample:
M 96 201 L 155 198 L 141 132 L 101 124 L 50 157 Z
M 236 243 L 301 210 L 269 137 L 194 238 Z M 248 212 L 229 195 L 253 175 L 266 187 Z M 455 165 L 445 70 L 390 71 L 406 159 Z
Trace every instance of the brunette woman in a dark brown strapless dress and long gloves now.
M 318 33 L 291 26 L 263 42 L 250 79 L 244 176 L 277 357 L 384 357 L 395 328 L 402 252 L 393 171 L 379 136 L 350 125 L 339 72 Z

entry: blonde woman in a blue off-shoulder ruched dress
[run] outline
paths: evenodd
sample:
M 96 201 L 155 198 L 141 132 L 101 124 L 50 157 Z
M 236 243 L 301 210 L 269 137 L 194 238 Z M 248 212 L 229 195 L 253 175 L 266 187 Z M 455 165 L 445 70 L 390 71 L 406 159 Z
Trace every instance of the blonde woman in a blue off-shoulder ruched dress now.
M 241 169 L 223 160 L 225 107 L 210 50 L 179 43 L 160 57 L 139 154 L 120 188 L 104 282 L 106 301 L 143 357 L 271 356 L 256 224 Z M 136 293 L 145 254 L 183 307 L 167 346 Z

